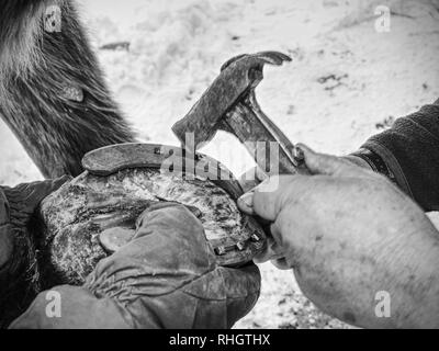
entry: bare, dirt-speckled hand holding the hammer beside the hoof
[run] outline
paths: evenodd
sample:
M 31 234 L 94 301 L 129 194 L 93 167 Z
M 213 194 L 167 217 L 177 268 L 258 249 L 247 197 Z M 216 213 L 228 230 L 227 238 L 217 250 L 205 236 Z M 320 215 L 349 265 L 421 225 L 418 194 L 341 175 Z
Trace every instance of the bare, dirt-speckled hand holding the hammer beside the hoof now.
M 362 327 L 439 326 L 439 237 L 424 212 L 385 178 L 302 148 L 313 176 L 272 178 L 239 204 L 272 223 L 305 295 Z M 375 315 L 379 292 L 390 318 Z

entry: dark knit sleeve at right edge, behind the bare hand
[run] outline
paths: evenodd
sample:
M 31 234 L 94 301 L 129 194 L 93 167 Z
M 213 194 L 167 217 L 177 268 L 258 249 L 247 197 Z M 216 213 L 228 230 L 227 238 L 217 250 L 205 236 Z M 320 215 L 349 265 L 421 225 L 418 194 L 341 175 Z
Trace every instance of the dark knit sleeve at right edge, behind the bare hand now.
M 381 158 L 386 176 L 425 211 L 439 211 L 439 100 L 398 118 L 362 149 Z

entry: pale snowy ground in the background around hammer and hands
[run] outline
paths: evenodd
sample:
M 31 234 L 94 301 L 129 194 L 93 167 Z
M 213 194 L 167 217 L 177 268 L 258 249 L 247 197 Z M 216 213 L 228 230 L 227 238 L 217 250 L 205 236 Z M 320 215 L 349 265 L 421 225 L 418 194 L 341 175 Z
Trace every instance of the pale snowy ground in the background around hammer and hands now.
M 171 125 L 241 53 L 277 49 L 294 61 L 268 68 L 258 88 L 267 114 L 293 143 L 337 155 L 354 150 L 394 117 L 439 98 L 439 1 L 82 0 L 109 86 L 139 138 L 177 144 Z M 387 5 L 390 32 L 374 11 Z M 41 178 L 0 123 L 0 183 Z M 251 162 L 232 137 L 203 151 L 236 174 Z M 262 265 L 263 291 L 239 327 L 344 327 L 300 294 L 292 273 Z

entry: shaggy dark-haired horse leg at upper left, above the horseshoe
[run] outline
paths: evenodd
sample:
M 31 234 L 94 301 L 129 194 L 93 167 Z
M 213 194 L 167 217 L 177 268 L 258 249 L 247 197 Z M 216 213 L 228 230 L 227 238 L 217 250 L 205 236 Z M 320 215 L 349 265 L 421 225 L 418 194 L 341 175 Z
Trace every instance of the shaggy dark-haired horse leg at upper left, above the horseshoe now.
M 50 5 L 60 32 L 44 29 Z M 0 0 L 0 115 L 46 178 L 77 176 L 87 151 L 135 139 L 67 0 Z

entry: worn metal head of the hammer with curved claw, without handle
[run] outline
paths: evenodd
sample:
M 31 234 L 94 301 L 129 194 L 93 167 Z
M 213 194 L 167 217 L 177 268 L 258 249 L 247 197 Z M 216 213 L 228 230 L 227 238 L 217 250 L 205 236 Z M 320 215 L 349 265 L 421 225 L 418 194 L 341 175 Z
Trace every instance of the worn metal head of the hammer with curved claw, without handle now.
M 284 61 L 291 61 L 291 58 L 277 52 L 241 55 L 229 59 L 198 103 L 184 118 L 173 125 L 173 133 L 187 148 L 198 150 L 221 129 L 227 112 L 247 99 L 263 79 L 263 66 L 281 66 Z M 187 140 L 188 133 L 191 133 L 193 139 Z

